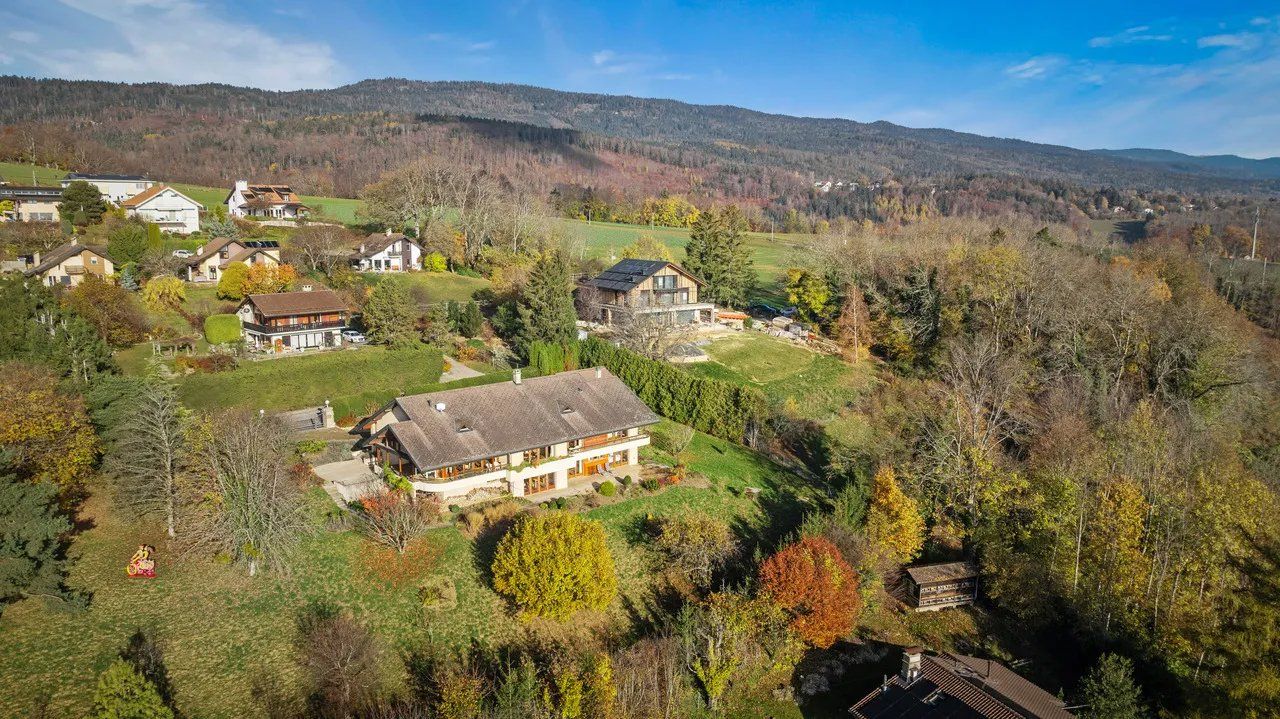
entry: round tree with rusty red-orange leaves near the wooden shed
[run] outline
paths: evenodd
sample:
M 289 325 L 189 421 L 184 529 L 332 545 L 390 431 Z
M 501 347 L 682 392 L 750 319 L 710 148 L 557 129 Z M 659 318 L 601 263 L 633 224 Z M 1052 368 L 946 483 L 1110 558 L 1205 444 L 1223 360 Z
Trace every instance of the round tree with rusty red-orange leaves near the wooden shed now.
M 760 590 L 791 614 L 805 642 L 826 649 L 852 631 L 861 610 L 858 574 L 829 540 L 788 544 L 760 564 Z

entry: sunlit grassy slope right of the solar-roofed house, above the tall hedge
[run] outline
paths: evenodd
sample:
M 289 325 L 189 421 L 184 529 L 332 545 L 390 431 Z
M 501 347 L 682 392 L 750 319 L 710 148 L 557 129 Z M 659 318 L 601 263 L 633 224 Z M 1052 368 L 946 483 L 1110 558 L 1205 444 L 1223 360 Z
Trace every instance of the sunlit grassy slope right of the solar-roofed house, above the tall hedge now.
M 717 339 L 703 349 L 712 361 L 684 365 L 687 371 L 759 386 L 774 403 L 817 420 L 849 445 L 868 440 L 869 425 L 854 407 L 874 388 L 872 361 L 849 365 L 755 331 Z

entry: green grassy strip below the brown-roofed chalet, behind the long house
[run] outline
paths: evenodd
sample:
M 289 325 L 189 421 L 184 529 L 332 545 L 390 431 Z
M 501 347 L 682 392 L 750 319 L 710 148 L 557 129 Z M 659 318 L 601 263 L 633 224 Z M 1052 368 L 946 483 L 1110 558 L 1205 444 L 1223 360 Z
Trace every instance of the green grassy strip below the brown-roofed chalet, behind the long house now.
M 397 394 L 415 394 L 440 380 L 434 349 L 362 347 L 301 357 L 242 361 L 234 370 L 177 380 L 192 409 L 301 409 L 330 400 L 338 417 L 360 415 Z

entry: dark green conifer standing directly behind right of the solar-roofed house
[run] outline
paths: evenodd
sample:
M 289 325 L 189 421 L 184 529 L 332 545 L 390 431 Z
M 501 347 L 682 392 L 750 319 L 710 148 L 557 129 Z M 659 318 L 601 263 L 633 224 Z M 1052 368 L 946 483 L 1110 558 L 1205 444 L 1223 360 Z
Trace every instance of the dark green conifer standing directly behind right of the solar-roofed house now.
M 741 307 L 755 283 L 746 220 L 736 206 L 699 215 L 685 246 L 685 269 L 707 281 L 703 294 L 717 304 Z

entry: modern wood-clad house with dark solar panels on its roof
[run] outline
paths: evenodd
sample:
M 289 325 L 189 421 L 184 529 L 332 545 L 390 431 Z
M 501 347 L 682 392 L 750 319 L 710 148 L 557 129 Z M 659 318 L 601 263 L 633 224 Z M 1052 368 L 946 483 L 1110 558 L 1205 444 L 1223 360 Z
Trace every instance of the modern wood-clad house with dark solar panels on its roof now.
M 704 283 L 675 262 L 623 260 L 585 284 L 598 290 L 607 325 L 622 311 L 658 315 L 677 325 L 716 321 L 716 304 L 698 301 Z

